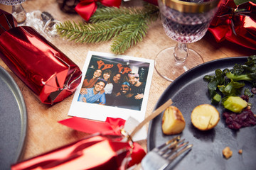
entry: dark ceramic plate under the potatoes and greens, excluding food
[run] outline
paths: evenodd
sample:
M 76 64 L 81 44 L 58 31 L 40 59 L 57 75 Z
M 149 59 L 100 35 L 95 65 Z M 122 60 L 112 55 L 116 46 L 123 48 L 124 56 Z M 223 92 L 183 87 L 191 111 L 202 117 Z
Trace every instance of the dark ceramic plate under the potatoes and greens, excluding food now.
M 181 137 L 193 144 L 191 152 L 182 160 L 170 165 L 169 169 L 256 169 L 256 126 L 230 130 L 225 126 L 221 116 L 223 113 L 221 106 L 216 107 L 220 112 L 220 122 L 212 130 L 203 132 L 194 128 L 191 123 L 193 108 L 203 103 L 210 103 L 207 82 L 203 81 L 203 77 L 206 74 L 214 75 L 215 69 L 232 68 L 235 63 L 246 61 L 247 57 L 229 57 L 201 64 L 178 77 L 161 95 L 155 108 L 171 98 L 174 102 L 173 106 L 180 109 L 186 120 L 186 128 L 181 133 Z M 249 87 L 249 84 L 246 86 Z M 252 103 L 252 112 L 256 113 L 256 96 L 249 101 Z M 147 139 L 149 151 L 174 137 L 174 135 L 164 135 L 161 131 L 162 115 L 163 113 L 149 123 Z M 222 150 L 225 147 L 233 150 L 230 159 L 223 157 Z M 242 149 L 242 154 L 238 154 L 239 149 Z

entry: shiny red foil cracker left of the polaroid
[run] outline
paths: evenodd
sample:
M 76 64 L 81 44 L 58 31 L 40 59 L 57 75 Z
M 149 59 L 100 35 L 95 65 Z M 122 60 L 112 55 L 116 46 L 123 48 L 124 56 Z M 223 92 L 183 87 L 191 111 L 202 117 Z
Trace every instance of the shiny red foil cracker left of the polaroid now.
M 80 84 L 79 67 L 28 26 L 15 27 L 0 11 L 0 57 L 42 103 L 63 101 Z M 4 15 L 4 16 L 3 16 Z M 11 18 L 11 20 L 14 20 Z M 3 31 L 4 30 L 4 31 Z

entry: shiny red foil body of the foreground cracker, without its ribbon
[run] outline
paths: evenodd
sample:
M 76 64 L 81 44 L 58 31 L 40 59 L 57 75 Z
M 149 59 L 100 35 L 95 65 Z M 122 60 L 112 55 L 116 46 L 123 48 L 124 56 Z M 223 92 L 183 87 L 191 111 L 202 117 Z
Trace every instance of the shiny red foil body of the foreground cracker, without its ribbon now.
M 85 139 L 60 147 L 11 166 L 18 169 L 126 169 L 130 154 L 128 142 L 94 134 Z

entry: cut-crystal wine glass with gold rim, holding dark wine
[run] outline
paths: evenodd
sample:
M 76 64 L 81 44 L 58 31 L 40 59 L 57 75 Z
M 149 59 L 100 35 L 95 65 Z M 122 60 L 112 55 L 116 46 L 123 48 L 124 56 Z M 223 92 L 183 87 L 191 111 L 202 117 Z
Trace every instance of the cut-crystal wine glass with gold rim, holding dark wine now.
M 196 42 L 206 34 L 220 0 L 158 0 L 161 21 L 166 35 L 175 40 L 156 55 L 155 69 L 161 77 L 174 81 L 183 72 L 203 63 L 188 43 Z

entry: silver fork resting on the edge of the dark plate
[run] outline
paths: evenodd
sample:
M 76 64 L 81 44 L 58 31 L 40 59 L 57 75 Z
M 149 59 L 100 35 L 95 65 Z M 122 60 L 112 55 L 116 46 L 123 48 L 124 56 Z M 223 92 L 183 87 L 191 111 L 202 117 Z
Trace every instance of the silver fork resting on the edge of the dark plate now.
M 142 169 L 160 170 L 165 169 L 176 157 L 183 152 L 189 152 L 193 145 L 181 140 L 180 136 L 174 137 L 159 147 L 155 147 L 142 159 Z

